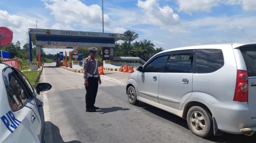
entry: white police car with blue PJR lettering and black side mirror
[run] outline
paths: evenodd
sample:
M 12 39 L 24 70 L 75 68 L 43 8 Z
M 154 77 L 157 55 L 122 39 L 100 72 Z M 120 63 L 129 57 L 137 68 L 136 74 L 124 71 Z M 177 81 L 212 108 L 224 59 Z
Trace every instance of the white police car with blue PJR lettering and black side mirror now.
M 44 143 L 43 98 L 52 88 L 38 83 L 36 89 L 10 65 L 0 63 L 0 143 Z

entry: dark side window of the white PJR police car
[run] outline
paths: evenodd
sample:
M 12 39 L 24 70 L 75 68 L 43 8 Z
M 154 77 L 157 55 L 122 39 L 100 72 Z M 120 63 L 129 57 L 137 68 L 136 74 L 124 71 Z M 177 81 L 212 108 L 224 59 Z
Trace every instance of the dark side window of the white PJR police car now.
M 22 79 L 11 68 L 3 70 L 5 88 L 12 111 L 17 111 L 29 100 L 29 92 Z

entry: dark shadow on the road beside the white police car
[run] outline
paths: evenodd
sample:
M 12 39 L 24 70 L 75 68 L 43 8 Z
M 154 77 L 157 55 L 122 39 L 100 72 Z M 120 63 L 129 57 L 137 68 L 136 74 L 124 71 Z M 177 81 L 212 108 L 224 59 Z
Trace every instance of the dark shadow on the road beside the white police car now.
M 64 142 L 60 135 L 60 129 L 56 125 L 54 125 L 50 121 L 46 121 L 45 124 L 51 124 L 51 126 L 52 126 L 53 143 L 82 143 L 81 141 Z M 47 142 L 47 141 L 45 141 L 45 142 Z

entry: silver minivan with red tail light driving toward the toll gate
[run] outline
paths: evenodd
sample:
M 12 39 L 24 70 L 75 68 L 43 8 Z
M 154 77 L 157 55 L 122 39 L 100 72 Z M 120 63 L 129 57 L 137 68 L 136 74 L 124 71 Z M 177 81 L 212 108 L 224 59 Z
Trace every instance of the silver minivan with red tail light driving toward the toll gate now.
M 132 73 L 126 85 L 139 101 L 185 118 L 191 132 L 256 132 L 256 43 L 216 44 L 162 51 Z

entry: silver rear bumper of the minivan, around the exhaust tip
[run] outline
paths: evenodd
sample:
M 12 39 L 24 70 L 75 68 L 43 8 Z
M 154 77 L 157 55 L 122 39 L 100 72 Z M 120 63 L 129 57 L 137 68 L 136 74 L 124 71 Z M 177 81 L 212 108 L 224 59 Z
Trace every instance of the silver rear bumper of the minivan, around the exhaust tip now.
M 256 132 L 256 118 L 251 117 L 256 109 L 249 109 L 247 102 L 218 102 L 208 107 L 220 131 L 247 135 Z

